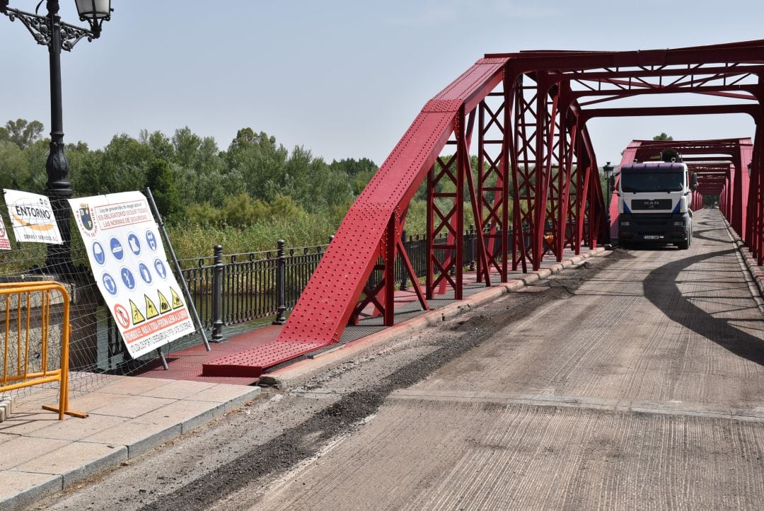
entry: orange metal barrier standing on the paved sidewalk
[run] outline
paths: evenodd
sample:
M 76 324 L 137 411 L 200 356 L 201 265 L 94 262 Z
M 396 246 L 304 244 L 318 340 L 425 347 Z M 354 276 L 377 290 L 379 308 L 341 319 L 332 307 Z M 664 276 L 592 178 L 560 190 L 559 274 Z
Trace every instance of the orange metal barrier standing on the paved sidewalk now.
M 59 367 L 48 367 L 50 351 L 50 306 L 60 296 L 61 335 Z M 59 306 L 56 303 L 56 306 Z M 85 418 L 87 414 L 69 409 L 69 293 L 57 282 L 0 283 L 0 318 L 5 332 L 0 335 L 0 393 L 44 383 L 59 382 L 58 406 L 43 406 L 58 413 Z M 2 319 L 0 319 L 2 321 Z

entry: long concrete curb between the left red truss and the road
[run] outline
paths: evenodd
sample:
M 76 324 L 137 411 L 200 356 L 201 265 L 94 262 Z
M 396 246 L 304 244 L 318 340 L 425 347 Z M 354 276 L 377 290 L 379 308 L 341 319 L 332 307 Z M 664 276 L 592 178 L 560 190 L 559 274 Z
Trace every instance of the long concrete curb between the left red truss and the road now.
M 492 286 L 459 302 L 449 303 L 447 306 L 425 312 L 416 318 L 408 319 L 403 323 L 385 328 L 381 332 L 367 335 L 366 337 L 360 338 L 357 341 L 348 342 L 348 344 L 344 344 L 336 350 L 325 352 L 320 356 L 316 356 L 315 358 L 296 362 L 295 364 L 291 364 L 287 367 L 282 367 L 281 369 L 274 370 L 273 372 L 264 376 L 267 376 L 269 380 L 275 380 L 274 383 L 287 383 L 290 380 L 297 380 L 300 377 L 305 377 L 307 374 L 310 374 L 315 370 L 319 370 L 321 367 L 325 367 L 329 364 L 334 364 L 355 354 L 359 354 L 363 351 L 375 348 L 379 344 L 393 341 L 395 339 L 405 337 L 406 335 L 416 334 L 416 332 L 421 332 L 425 328 L 438 325 L 439 323 L 445 322 L 448 319 L 452 319 L 455 316 L 463 314 L 470 309 L 474 309 L 475 307 L 493 302 L 502 295 L 516 291 L 517 289 L 521 289 L 530 283 L 536 282 L 537 280 L 549 278 L 550 276 L 554 275 L 555 273 L 559 273 L 567 267 L 571 267 L 575 264 L 580 264 L 584 260 L 587 260 L 589 257 L 603 254 L 605 251 L 606 249 L 604 247 L 594 248 L 591 251 L 588 251 L 586 254 L 574 256 L 570 259 L 555 263 L 549 268 L 544 268 L 533 273 L 527 273 L 525 276 L 519 279 L 510 280 L 507 283 L 500 283 L 497 286 Z

